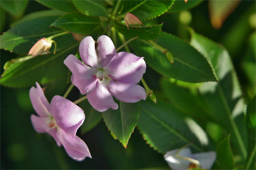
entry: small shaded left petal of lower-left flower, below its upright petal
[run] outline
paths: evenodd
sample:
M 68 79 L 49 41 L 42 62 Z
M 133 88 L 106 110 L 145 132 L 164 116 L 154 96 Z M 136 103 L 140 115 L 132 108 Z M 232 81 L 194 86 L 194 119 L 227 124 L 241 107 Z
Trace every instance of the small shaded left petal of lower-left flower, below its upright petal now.
M 38 133 L 48 133 L 55 139 L 57 145 L 61 146 L 61 143 L 57 137 L 57 128 L 49 128 L 47 125 L 47 120 L 49 117 L 38 117 L 34 114 L 31 114 L 30 119 L 35 131 Z

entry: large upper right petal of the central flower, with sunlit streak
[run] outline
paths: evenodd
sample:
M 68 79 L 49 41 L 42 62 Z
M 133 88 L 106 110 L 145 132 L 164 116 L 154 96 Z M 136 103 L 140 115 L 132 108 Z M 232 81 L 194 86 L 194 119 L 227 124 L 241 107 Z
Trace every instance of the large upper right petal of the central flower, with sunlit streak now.
M 132 53 L 120 52 L 113 57 L 105 70 L 114 80 L 126 84 L 137 84 L 146 72 L 146 63 L 142 57 L 137 57 Z

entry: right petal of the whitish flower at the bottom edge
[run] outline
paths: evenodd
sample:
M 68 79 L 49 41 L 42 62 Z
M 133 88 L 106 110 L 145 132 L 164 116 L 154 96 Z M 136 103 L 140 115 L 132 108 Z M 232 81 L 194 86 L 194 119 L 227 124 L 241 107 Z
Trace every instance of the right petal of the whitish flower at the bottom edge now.
M 200 162 L 201 168 L 210 169 L 216 159 L 216 152 L 202 152 L 193 154 L 193 158 Z

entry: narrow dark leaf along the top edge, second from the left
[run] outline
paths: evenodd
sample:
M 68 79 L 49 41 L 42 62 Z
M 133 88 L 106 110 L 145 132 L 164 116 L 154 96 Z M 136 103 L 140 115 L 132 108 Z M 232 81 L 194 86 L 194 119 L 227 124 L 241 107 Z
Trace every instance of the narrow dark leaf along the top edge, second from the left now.
M 72 12 L 72 11 L 76 11 L 76 7 L 73 5 L 73 3 L 71 1 L 68 0 L 63 0 L 61 1 L 46 1 L 46 0 L 36 0 L 39 3 L 42 3 L 43 5 L 49 7 L 49 8 L 53 8 L 55 10 L 60 10 L 60 11 L 64 11 L 64 12 Z

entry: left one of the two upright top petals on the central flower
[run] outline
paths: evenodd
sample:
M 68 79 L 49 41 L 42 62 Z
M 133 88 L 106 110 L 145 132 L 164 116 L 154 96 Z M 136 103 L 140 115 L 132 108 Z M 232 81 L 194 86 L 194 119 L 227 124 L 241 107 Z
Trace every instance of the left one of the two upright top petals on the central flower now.
M 95 47 L 96 46 L 93 37 L 87 36 L 81 41 L 79 45 L 79 53 L 82 61 L 86 65 L 97 68 L 98 59 Z

